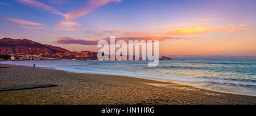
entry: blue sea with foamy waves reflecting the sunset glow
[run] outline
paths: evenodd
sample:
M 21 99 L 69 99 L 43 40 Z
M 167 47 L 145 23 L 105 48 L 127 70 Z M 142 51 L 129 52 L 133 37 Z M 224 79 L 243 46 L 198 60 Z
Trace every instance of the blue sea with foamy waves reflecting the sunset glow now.
M 27 60 L 0 63 L 178 81 L 216 92 L 256 96 L 256 59 L 175 59 L 159 61 L 158 67 L 148 67 L 148 62 Z

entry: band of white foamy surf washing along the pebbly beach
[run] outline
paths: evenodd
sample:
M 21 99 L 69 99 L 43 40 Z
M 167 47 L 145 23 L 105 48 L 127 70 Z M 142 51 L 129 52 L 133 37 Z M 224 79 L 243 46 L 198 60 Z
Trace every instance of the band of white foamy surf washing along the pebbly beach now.
M 24 64 L 15 64 L 15 63 L 6 63 L 0 62 L 0 64 L 6 65 L 20 65 L 24 67 L 31 67 L 32 64 L 24 63 Z M 145 80 L 153 80 L 153 81 L 162 81 L 162 82 L 172 82 L 179 85 L 187 85 L 193 86 L 198 89 L 205 89 L 210 90 L 213 92 L 220 92 L 220 93 L 231 93 L 231 94 L 240 94 L 245 96 L 256 96 L 256 85 L 247 85 L 247 84 L 239 84 L 233 82 L 223 82 L 223 81 L 215 81 L 215 80 L 200 80 L 201 78 L 172 78 L 170 77 L 163 77 L 163 76 L 150 76 L 145 74 L 134 74 L 134 73 L 118 73 L 118 72 L 102 72 L 102 71 L 90 71 L 84 70 L 79 68 L 67 68 L 67 67 L 45 67 L 42 65 L 37 65 L 38 68 L 44 69 L 55 69 L 58 71 L 65 71 L 65 72 L 72 72 L 72 73 L 85 73 L 85 74 L 100 74 L 100 75 L 109 75 L 109 76 L 124 76 L 124 77 L 133 77 L 133 78 L 142 78 Z

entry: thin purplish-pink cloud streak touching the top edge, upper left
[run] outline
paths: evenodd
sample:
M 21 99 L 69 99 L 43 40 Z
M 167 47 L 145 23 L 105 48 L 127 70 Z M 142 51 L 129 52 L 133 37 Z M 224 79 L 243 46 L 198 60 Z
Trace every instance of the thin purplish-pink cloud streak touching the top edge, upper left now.
M 38 2 L 36 0 L 15 0 L 15 1 L 17 1 L 19 3 L 23 3 L 24 5 L 35 7 L 37 9 L 42 9 L 42 10 L 49 11 L 50 13 L 53 13 L 53 14 L 63 15 L 62 13 L 60 13 L 54 7 L 45 5 L 44 3 Z

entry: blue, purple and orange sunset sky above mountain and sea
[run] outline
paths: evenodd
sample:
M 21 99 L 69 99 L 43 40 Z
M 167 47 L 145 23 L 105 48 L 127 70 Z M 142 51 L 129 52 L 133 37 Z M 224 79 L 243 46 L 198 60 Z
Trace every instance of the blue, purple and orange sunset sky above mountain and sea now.
M 164 56 L 256 56 L 255 0 L 0 0 L 0 38 L 69 51 L 159 40 Z

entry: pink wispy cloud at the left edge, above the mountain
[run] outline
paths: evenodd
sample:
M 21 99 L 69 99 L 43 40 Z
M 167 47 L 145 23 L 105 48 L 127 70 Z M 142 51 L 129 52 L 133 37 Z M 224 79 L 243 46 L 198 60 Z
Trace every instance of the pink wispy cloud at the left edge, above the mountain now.
M 5 18 L 1 17 L 0 19 L 7 20 L 11 23 L 17 24 L 19 27 L 27 28 L 27 29 L 45 29 L 45 25 L 41 23 L 35 23 L 28 20 L 20 20 L 20 19 L 11 19 L 11 18 Z

